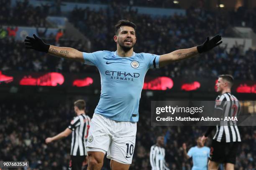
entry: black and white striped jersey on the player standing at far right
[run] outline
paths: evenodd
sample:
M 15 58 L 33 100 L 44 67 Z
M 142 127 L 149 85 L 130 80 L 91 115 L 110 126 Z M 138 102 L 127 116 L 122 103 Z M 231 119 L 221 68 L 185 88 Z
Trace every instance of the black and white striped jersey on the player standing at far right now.
M 240 114 L 240 104 L 234 95 L 226 92 L 219 95 L 215 101 L 215 109 L 222 110 L 220 125 L 216 126 L 216 133 L 213 137 L 218 142 L 241 142 L 240 133 L 236 121 L 225 121 L 225 117 L 237 117 Z

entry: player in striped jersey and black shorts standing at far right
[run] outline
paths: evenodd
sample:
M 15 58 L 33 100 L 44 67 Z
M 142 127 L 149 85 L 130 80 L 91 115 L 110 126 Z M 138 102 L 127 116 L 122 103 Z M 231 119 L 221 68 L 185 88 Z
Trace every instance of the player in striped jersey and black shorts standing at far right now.
M 231 75 L 220 75 L 216 83 L 217 92 L 220 93 L 215 102 L 215 113 L 220 117 L 237 117 L 240 113 L 240 104 L 237 98 L 232 95 L 231 87 L 233 85 Z M 241 142 L 240 133 L 236 121 L 220 120 L 220 126 L 216 126 L 216 133 L 212 139 L 209 170 L 216 170 L 220 163 L 224 163 L 225 170 L 234 170 L 236 164 L 236 154 Z M 207 136 L 215 126 L 210 126 L 202 137 L 205 142 Z

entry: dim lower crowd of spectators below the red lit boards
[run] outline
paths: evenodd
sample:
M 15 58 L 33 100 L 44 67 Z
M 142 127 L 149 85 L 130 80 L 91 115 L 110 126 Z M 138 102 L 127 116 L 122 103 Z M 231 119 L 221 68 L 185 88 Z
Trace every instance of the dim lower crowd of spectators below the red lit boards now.
M 29 101 L 0 103 L 0 160 L 28 160 L 28 170 L 67 170 L 71 135 L 48 145 L 45 139 L 67 128 L 74 116 L 73 101 L 49 104 L 32 98 Z M 89 110 L 86 112 L 92 117 L 93 108 L 89 107 Z M 188 149 L 195 146 L 195 140 L 207 127 L 154 127 L 150 116 L 146 116 L 150 115 L 146 102 L 141 102 L 140 110 L 131 169 L 151 169 L 150 148 L 156 143 L 157 136 L 164 135 L 165 160 L 170 170 L 190 170 L 192 160 L 184 158 L 182 143 L 185 142 Z M 256 128 L 244 126 L 240 127 L 240 132 L 242 143 L 238 148 L 236 170 L 255 170 Z M 210 143 L 211 140 L 206 145 L 210 146 Z M 102 170 L 110 169 L 108 159 L 105 159 L 103 167 Z

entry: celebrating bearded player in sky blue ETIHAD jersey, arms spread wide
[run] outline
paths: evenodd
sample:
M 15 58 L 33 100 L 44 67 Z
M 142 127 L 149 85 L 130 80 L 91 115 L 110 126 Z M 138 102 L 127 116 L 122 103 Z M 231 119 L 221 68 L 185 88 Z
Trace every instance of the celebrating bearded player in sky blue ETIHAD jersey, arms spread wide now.
M 216 35 L 212 39 L 207 37 L 202 45 L 161 56 L 135 53 L 136 25 L 128 20 L 120 20 L 115 25 L 113 39 L 117 50 L 113 52 L 80 52 L 74 48 L 46 44 L 36 35 L 33 37 L 26 37 L 27 49 L 95 65 L 100 71 L 100 101 L 92 118 L 87 141 L 88 168 L 93 170 L 102 168 L 105 153 L 111 159 L 111 169 L 129 169 L 136 141 L 139 100 L 144 77 L 150 68 L 195 57 L 222 43 L 221 35 Z

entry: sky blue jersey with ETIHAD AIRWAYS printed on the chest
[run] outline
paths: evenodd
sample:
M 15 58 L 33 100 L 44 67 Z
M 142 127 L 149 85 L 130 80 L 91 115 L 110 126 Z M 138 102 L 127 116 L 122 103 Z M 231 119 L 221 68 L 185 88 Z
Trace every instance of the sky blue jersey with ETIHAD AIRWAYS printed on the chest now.
M 159 55 L 135 53 L 120 57 L 117 52 L 83 52 L 84 63 L 100 71 L 101 94 L 95 113 L 116 121 L 138 122 L 138 107 L 144 77 L 159 67 Z

